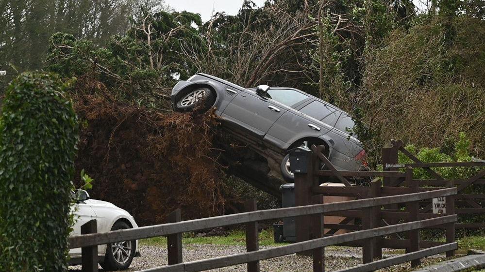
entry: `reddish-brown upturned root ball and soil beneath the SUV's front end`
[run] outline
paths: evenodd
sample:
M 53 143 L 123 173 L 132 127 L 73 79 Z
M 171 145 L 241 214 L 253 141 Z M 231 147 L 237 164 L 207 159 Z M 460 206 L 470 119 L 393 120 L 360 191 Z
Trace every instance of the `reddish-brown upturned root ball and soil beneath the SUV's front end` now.
M 178 208 L 185 220 L 224 211 L 214 110 L 160 113 L 99 92 L 74 100 L 84 120 L 76 170 L 95 180 L 91 197 L 127 210 L 139 225 L 162 223 Z

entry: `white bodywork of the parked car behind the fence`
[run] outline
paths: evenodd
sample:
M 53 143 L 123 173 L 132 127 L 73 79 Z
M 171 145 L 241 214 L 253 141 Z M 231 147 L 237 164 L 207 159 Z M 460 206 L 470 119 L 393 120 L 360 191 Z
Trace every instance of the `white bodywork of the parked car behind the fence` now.
M 129 212 L 115 206 L 113 203 L 87 199 L 74 205 L 78 207 L 77 211 L 74 211 L 74 207 L 71 208 L 71 212 L 78 216 L 78 220 L 74 224 L 74 231 L 71 235 L 81 235 L 81 226 L 91 219 L 97 220 L 98 232 L 109 232 L 111 228 L 118 220 L 124 220 L 129 222 L 132 227 L 138 227 L 133 216 Z M 135 244 L 135 252 L 138 251 L 138 240 Z M 106 244 L 98 245 L 98 255 L 104 256 L 106 253 Z M 72 248 L 69 250 L 69 256 L 78 257 L 81 255 L 81 248 Z

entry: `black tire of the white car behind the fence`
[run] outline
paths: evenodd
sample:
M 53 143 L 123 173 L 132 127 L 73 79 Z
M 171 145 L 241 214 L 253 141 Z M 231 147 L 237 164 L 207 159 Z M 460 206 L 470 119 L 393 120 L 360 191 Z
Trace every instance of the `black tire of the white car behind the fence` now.
M 128 229 L 128 228 L 131 228 L 131 227 L 128 226 L 128 224 L 126 224 L 125 222 L 117 221 L 115 223 L 115 225 L 113 225 L 111 230 Z M 132 240 L 132 241 L 129 241 L 129 242 L 131 242 L 131 245 L 130 245 L 131 251 L 130 251 L 129 255 L 126 256 L 128 258 L 126 260 L 122 259 L 121 262 L 119 262 L 117 260 L 116 253 L 113 254 L 113 247 L 116 246 L 116 244 L 118 244 L 118 243 L 115 243 L 115 245 L 113 245 L 111 243 L 107 244 L 106 245 L 106 255 L 104 256 L 104 261 L 102 263 L 100 263 L 101 267 L 106 271 L 116 271 L 116 270 L 126 270 L 126 269 L 128 269 L 128 267 L 130 267 L 130 265 L 132 264 L 133 257 L 135 255 L 135 251 L 136 251 L 136 241 Z M 127 242 L 121 242 L 121 243 L 126 244 Z M 118 249 L 118 251 L 120 251 L 120 250 L 121 249 Z M 124 249 L 124 250 L 126 250 L 126 249 Z

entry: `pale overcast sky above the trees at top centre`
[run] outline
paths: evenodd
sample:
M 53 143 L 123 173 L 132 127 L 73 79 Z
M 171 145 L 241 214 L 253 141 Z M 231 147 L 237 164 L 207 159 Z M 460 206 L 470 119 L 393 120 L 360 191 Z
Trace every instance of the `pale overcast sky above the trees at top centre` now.
M 263 6 L 265 0 L 252 0 L 258 7 Z M 189 11 L 199 13 L 202 21 L 208 21 L 212 14 L 225 12 L 228 15 L 236 15 L 242 6 L 243 0 L 165 0 L 176 11 Z

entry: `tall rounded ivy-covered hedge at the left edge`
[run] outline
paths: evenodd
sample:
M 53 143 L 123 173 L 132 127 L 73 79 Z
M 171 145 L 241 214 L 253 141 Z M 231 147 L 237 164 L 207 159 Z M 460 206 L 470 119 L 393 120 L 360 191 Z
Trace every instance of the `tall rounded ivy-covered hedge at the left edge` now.
M 0 271 L 67 271 L 79 125 L 63 84 L 24 73 L 0 120 Z

